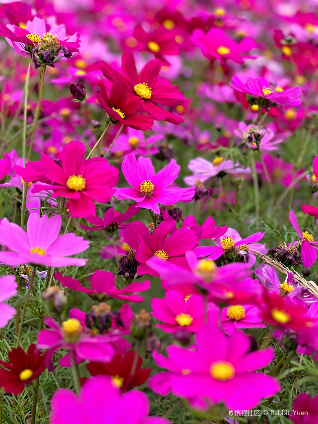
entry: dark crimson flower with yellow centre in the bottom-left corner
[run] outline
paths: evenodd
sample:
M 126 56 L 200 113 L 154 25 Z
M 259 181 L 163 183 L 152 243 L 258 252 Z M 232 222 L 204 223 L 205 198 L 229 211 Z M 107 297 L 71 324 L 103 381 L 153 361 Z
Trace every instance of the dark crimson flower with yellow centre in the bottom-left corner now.
M 9 362 L 0 361 L 6 369 L 0 369 L 0 386 L 6 393 L 18 395 L 26 384 L 35 380 L 47 367 L 49 352 L 41 354 L 35 344 L 30 344 L 28 352 L 17 347 L 8 352 Z

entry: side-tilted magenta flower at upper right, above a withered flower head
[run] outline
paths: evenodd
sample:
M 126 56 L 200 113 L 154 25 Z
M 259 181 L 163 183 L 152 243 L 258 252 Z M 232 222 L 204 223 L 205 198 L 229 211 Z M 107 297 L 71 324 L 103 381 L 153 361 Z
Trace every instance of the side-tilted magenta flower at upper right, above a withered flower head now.
M 300 98 L 302 90 L 299 87 L 291 87 L 286 90 L 280 87 L 272 89 L 264 78 L 247 78 L 246 83 L 243 84 L 236 75 L 232 80 L 233 83 L 230 83 L 230 85 L 235 90 L 261 97 L 261 99 L 269 100 L 272 103 L 289 106 L 298 106 L 302 103 Z

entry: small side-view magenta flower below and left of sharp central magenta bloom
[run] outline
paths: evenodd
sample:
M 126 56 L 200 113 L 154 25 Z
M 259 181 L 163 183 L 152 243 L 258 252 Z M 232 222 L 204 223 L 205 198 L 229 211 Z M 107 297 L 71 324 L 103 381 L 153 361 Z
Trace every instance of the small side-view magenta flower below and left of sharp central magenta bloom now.
M 113 231 L 122 230 L 127 227 L 128 224 L 122 224 L 123 222 L 127 221 L 134 215 L 136 215 L 139 212 L 139 209 L 135 208 L 135 205 L 129 206 L 126 212 L 119 213 L 117 211 L 114 211 L 114 208 L 109 208 L 106 210 L 104 214 L 104 218 L 99 218 L 98 216 L 89 215 L 86 216 L 86 220 L 93 224 L 94 227 L 86 227 L 85 225 L 81 225 L 81 228 L 83 230 L 89 230 L 89 231 L 98 231 L 98 230 L 105 230 L 107 233 L 112 233 Z M 122 224 L 122 225 L 120 225 Z

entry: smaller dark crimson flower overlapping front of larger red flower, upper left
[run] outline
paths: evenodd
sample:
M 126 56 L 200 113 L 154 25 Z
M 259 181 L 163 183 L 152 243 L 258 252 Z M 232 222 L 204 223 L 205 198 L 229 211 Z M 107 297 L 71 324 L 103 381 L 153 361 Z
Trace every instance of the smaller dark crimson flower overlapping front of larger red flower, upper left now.
M 100 93 L 94 90 L 94 95 L 106 110 L 109 121 L 117 125 L 128 125 L 136 130 L 147 131 L 154 125 L 152 116 L 136 115 L 143 100 L 131 94 L 129 86 L 122 81 L 115 81 L 111 86 L 108 97 L 106 85 L 103 81 L 99 84 Z

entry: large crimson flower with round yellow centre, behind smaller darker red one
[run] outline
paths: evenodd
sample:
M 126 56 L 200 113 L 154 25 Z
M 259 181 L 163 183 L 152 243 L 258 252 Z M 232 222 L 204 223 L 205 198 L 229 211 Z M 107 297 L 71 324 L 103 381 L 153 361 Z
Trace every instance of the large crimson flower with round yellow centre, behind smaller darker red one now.
M 172 124 L 183 122 L 180 116 L 163 109 L 162 106 L 177 106 L 184 103 L 185 98 L 176 85 L 159 78 L 160 63 L 158 60 L 148 62 L 138 75 L 134 55 L 124 52 L 121 58 L 122 74 L 107 63 L 102 62 L 101 71 L 109 81 L 121 80 L 130 87 L 130 92 L 144 100 L 142 108 L 156 120 L 168 121 Z M 160 105 L 160 106 L 159 106 Z

